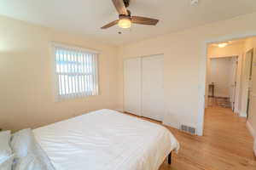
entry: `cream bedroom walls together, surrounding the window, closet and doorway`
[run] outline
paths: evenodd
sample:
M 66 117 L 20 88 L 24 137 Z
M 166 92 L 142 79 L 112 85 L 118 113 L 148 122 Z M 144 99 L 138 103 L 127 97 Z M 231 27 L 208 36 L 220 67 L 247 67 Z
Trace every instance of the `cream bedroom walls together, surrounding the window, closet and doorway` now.
M 166 116 L 202 130 L 207 42 L 256 35 L 256 13 L 115 48 L 83 37 L 0 17 L 0 127 L 38 127 L 101 108 L 123 108 L 123 59 L 164 54 Z M 101 51 L 99 96 L 54 102 L 50 42 Z M 118 49 L 118 50 L 117 50 Z M 253 126 L 255 122 L 252 119 Z

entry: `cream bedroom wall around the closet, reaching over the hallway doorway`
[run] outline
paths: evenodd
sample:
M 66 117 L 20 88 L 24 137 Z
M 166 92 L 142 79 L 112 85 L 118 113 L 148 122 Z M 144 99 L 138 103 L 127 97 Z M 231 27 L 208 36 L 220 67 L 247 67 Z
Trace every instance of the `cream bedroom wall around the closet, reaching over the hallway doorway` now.
M 202 132 L 205 78 L 207 65 L 206 42 L 256 35 L 256 14 L 247 14 L 207 26 L 178 31 L 133 42 L 119 48 L 119 108 L 123 107 L 123 60 L 151 54 L 164 54 L 164 88 L 166 117 L 172 127 L 186 123 Z

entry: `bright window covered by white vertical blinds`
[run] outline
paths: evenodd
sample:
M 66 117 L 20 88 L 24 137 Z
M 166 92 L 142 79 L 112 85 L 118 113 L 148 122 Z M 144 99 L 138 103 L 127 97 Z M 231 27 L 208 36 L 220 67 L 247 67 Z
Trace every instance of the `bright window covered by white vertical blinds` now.
M 56 100 L 98 94 L 97 53 L 54 44 Z

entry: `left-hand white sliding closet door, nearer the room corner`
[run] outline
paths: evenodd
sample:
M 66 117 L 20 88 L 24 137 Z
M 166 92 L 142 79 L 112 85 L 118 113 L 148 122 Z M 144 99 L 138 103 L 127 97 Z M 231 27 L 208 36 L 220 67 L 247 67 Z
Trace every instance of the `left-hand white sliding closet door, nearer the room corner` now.
M 124 109 L 141 116 L 141 58 L 125 59 L 124 63 Z

